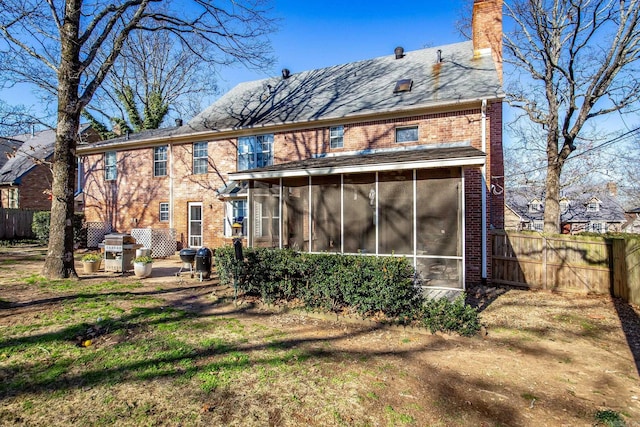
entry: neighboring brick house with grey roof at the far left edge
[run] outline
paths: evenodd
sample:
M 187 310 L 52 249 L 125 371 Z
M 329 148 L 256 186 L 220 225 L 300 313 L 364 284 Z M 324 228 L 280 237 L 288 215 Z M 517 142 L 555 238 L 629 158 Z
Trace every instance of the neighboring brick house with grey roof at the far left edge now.
M 94 142 L 99 136 L 88 125 L 81 130 L 83 142 Z M 15 135 L 3 142 L 0 167 L 0 207 L 13 209 L 51 209 L 52 173 L 55 129 Z

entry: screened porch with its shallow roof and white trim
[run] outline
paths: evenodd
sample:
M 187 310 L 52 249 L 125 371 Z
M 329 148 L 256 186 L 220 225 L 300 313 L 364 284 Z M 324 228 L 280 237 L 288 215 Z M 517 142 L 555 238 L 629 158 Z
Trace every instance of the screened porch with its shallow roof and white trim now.
M 387 150 L 230 177 L 249 183 L 248 246 L 402 256 L 422 286 L 464 289 L 464 170 L 484 162 L 470 146 Z

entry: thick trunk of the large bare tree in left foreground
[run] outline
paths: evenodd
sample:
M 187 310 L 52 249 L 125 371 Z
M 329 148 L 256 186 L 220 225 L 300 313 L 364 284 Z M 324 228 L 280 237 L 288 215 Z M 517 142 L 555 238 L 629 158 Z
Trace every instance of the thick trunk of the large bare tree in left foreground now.
M 58 67 L 58 127 L 53 155 L 51 188 L 51 225 L 49 250 L 42 275 L 54 278 L 77 278 L 73 260 L 73 196 L 75 184 L 76 139 L 82 106 L 80 86 L 80 48 L 78 29 L 82 0 L 67 0 L 60 32 Z

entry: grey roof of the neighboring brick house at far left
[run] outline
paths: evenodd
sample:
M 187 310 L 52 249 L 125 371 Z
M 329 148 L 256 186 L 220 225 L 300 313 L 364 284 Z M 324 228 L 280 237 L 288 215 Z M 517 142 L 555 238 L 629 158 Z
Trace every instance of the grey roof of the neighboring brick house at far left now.
M 84 133 L 89 128 L 89 125 L 84 125 L 81 127 L 81 132 Z M 15 135 L 11 139 L 19 143 L 19 148 L 0 168 L 0 185 L 20 184 L 24 174 L 36 167 L 38 162 L 53 155 L 56 130 L 47 129 L 33 134 Z

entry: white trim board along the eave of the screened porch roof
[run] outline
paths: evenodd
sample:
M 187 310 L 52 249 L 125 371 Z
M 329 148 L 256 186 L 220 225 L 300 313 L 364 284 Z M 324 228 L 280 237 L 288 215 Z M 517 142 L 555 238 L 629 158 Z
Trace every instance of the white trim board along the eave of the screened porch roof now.
M 321 176 L 321 175 L 337 175 L 340 173 L 364 173 L 364 172 L 384 172 L 409 169 L 435 169 L 450 168 L 460 166 L 484 166 L 486 156 L 448 158 L 439 160 L 416 160 L 411 162 L 397 163 L 376 163 L 371 165 L 352 165 L 339 167 L 323 167 L 308 169 L 291 169 L 276 171 L 257 171 L 257 172 L 235 172 L 230 173 L 229 178 L 235 181 L 247 181 L 252 179 L 265 178 L 293 178 L 300 176 Z

